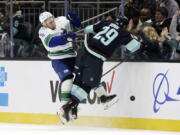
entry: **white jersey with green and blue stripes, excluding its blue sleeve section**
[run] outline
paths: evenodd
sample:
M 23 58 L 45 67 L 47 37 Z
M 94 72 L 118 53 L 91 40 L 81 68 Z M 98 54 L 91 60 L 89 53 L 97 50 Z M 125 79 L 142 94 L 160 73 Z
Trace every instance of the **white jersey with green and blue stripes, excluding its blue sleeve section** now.
M 49 46 L 49 41 L 53 36 L 60 36 L 64 34 L 64 31 L 71 31 L 71 26 L 69 20 L 60 16 L 55 18 L 56 29 L 51 30 L 47 27 L 42 26 L 39 29 L 39 38 L 41 39 L 44 47 L 48 51 L 48 57 L 50 59 L 64 59 L 70 57 L 76 57 L 76 52 L 73 49 L 72 43 L 68 42 L 64 45 L 58 45 L 55 47 Z

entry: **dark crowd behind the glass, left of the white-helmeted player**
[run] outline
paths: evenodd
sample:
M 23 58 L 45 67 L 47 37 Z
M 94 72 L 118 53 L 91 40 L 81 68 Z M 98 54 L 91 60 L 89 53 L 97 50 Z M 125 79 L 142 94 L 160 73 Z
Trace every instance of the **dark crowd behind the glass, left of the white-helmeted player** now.
M 22 5 L 21 6 L 26 6 Z M 28 6 L 35 6 L 36 4 L 28 4 Z M 13 57 L 14 58 L 29 58 L 29 57 L 46 57 L 46 51 L 41 45 L 38 39 L 38 30 L 33 28 L 32 22 L 25 21 L 26 16 L 32 16 L 31 14 L 25 15 L 21 10 L 21 6 L 18 2 L 13 4 Z M 34 16 L 34 14 L 33 14 Z M 38 20 L 39 14 L 36 14 L 36 27 L 39 26 Z M 3 10 L 0 11 L 0 33 L 1 35 L 8 35 L 10 40 L 10 3 L 7 2 Z M 9 43 L 10 42 L 6 42 Z M 3 48 L 6 50 L 5 57 L 10 57 L 9 47 Z

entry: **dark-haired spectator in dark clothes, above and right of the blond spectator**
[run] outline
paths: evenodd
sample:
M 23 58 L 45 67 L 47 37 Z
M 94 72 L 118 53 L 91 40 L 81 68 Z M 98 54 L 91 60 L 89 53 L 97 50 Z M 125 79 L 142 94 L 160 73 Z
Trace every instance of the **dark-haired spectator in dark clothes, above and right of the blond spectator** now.
M 153 26 L 159 35 L 161 34 L 163 28 L 167 27 L 169 29 L 171 19 L 167 19 L 167 17 L 168 10 L 166 8 L 160 7 L 156 10 Z

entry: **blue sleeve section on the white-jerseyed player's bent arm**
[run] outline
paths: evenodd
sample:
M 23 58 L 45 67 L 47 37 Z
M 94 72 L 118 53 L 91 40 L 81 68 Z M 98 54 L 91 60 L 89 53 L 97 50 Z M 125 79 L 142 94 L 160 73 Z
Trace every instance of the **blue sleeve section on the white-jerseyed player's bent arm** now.
M 68 41 L 66 40 L 65 36 L 54 36 L 49 41 L 49 47 L 65 45 L 66 43 L 68 43 Z

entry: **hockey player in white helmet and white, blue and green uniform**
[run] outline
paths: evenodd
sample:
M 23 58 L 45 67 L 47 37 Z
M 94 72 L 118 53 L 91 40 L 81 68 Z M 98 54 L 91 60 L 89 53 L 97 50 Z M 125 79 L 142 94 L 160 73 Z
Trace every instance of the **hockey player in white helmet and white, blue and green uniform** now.
M 71 27 L 80 27 L 81 21 L 77 14 L 69 11 L 68 15 L 54 18 L 50 12 L 43 12 L 39 16 L 42 27 L 39 29 L 39 38 L 48 51 L 52 67 L 61 81 L 61 100 L 66 103 L 70 98 L 73 69 L 76 51 L 72 41 L 76 34 Z

